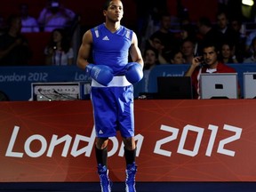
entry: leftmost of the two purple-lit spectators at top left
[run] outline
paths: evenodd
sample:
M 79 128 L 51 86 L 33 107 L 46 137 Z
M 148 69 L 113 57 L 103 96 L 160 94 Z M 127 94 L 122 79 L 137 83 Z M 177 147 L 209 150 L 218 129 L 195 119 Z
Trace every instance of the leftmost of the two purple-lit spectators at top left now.
M 39 32 L 39 26 L 36 18 L 28 13 L 28 4 L 20 4 L 21 33 Z

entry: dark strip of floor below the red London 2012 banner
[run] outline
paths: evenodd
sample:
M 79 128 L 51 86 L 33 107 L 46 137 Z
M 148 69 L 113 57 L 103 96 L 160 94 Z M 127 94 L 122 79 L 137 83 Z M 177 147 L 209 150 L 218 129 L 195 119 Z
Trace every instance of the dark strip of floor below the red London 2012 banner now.
M 255 192 L 256 182 L 138 182 L 137 192 Z M 4 192 L 100 192 L 95 183 L 0 183 Z M 124 183 L 113 183 L 112 192 L 124 192 Z

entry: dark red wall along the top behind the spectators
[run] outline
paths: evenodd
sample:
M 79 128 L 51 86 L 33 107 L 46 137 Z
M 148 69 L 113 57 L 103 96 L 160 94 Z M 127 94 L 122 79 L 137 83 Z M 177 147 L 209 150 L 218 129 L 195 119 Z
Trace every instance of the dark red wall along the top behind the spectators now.
M 101 22 L 104 18 L 102 15 L 101 4 L 103 0 L 94 0 L 88 3 L 86 0 L 60 0 L 66 7 L 74 10 L 81 15 L 82 24 L 92 26 Z M 28 3 L 30 13 L 34 17 L 38 17 L 39 12 L 44 8 L 47 0 L 5 0 L 4 5 L 0 6 L 0 14 L 6 18 L 12 12 L 19 12 L 20 3 Z M 123 0 L 124 2 L 124 22 L 129 25 L 136 22 L 136 4 L 133 0 Z M 188 8 L 191 21 L 195 21 L 199 16 L 208 16 L 211 20 L 215 20 L 217 12 L 217 0 L 181 0 L 182 4 Z M 167 0 L 167 7 L 172 15 L 177 14 L 176 0 Z

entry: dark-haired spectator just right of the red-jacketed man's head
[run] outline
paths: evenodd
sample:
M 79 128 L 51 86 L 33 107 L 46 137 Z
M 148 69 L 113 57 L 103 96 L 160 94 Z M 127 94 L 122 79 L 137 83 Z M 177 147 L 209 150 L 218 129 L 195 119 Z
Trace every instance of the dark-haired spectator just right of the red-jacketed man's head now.
M 236 46 L 234 44 L 226 42 L 222 44 L 220 49 L 220 60 L 223 63 L 238 63 L 235 54 Z

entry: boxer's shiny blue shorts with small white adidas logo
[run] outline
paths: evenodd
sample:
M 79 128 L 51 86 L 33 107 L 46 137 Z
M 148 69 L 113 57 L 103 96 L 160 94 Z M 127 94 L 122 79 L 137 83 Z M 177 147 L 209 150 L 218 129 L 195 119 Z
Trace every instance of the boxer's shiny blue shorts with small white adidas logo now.
M 113 137 L 116 131 L 124 138 L 134 136 L 132 84 L 106 87 L 94 82 L 91 99 L 97 137 Z

